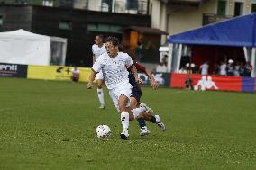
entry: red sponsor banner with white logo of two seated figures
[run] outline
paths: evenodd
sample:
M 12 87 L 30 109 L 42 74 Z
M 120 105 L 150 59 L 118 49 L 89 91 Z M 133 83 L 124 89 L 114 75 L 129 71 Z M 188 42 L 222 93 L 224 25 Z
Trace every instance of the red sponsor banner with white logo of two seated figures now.
M 171 74 L 171 87 L 185 87 L 186 74 Z M 242 92 L 242 77 L 237 76 L 202 76 L 191 74 L 195 90 L 222 90 Z

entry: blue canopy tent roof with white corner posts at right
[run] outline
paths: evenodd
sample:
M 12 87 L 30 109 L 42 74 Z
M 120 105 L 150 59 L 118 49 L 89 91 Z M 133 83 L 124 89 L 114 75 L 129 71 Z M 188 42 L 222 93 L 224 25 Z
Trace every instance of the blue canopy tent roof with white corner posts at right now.
M 184 45 L 243 47 L 246 61 L 255 76 L 256 13 L 217 22 L 205 27 L 178 33 L 169 37 L 169 71 L 177 72 Z

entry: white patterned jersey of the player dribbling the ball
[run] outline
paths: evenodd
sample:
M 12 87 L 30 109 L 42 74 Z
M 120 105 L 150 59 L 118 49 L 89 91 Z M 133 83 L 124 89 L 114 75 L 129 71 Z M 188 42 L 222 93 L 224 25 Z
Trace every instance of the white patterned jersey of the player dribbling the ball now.
M 108 89 L 113 89 L 119 85 L 129 83 L 126 67 L 132 65 L 132 58 L 126 53 L 118 53 L 115 58 L 110 58 L 107 53 L 104 53 L 96 59 L 92 69 L 96 72 L 102 69 L 105 85 Z

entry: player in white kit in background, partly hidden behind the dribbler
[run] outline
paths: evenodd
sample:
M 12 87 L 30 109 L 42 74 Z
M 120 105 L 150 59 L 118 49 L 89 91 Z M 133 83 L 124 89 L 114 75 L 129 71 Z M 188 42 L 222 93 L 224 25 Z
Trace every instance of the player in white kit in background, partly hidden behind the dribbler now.
M 95 44 L 92 46 L 93 52 L 93 64 L 96 62 L 96 59 L 106 52 L 105 44 L 103 43 L 103 35 L 96 35 Z M 105 109 L 104 93 L 102 89 L 104 76 L 102 71 L 96 74 L 96 83 L 97 83 L 97 97 L 100 102 L 100 109 Z

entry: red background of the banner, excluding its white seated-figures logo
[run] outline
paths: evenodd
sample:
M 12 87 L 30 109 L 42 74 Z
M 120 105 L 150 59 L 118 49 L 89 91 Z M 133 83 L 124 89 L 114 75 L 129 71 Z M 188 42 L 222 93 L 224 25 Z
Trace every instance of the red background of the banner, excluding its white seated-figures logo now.
M 185 87 L 187 74 L 171 74 L 171 87 Z M 206 88 L 206 90 L 220 90 L 220 91 L 234 91 L 242 92 L 242 77 L 238 76 L 212 76 L 210 75 L 212 82 L 215 83 L 218 89 L 214 86 Z M 190 74 L 190 78 L 193 81 L 193 85 L 197 85 L 198 81 L 202 79 L 202 75 Z M 206 76 L 206 79 L 208 76 Z M 200 86 L 200 85 L 199 85 Z

